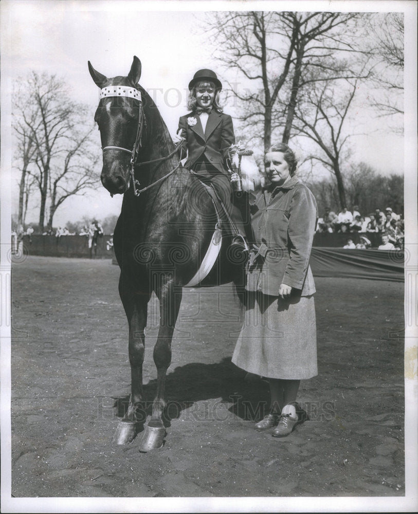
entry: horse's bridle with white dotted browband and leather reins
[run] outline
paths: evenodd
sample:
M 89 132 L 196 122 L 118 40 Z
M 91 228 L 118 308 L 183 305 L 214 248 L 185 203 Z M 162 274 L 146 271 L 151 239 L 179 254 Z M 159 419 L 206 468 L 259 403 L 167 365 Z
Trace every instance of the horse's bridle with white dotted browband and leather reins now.
M 131 155 L 130 178 L 132 179 L 134 195 L 139 196 L 144 191 L 147 191 L 148 189 L 155 186 L 157 183 L 161 182 L 162 180 L 165 180 L 167 177 L 172 175 L 177 170 L 177 168 L 179 168 L 180 162 L 177 164 L 177 166 L 173 170 L 171 170 L 169 173 L 167 173 L 167 175 L 164 175 L 163 177 L 159 178 L 158 180 L 156 180 L 149 186 L 142 188 L 142 189 L 136 189 L 136 186 L 139 187 L 140 183 L 138 180 L 135 179 L 135 166 L 144 166 L 145 164 L 151 164 L 153 162 L 160 162 L 160 161 L 169 159 L 177 152 L 177 150 L 181 144 L 181 141 L 176 143 L 174 150 L 166 157 L 159 157 L 158 159 L 152 159 L 152 160 L 144 161 L 144 162 L 137 162 L 139 151 L 142 147 L 143 127 L 145 126 L 147 128 L 147 119 L 143 112 L 141 91 L 139 91 L 135 87 L 131 87 L 131 86 L 110 85 L 110 86 L 103 87 L 100 90 L 100 99 L 110 98 L 110 97 L 126 97 L 126 98 L 133 98 L 133 99 L 139 101 L 138 127 L 137 127 L 137 131 L 136 131 L 136 137 L 135 137 L 133 149 L 129 150 L 128 148 L 123 148 L 123 146 L 114 146 L 114 145 L 108 145 L 108 146 L 104 146 L 102 148 L 102 152 L 105 152 L 106 150 L 119 150 L 120 152 L 126 152 Z M 111 196 L 113 196 L 113 195 L 111 194 Z

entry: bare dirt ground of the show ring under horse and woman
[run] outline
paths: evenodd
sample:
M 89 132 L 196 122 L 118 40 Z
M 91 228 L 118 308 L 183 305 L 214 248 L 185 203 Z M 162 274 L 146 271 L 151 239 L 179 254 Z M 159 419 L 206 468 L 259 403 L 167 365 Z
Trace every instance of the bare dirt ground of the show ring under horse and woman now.
M 29 256 L 13 265 L 14 497 L 405 494 L 403 283 L 316 279 L 319 375 L 299 393 L 310 419 L 283 439 L 253 429 L 268 386 L 245 381 L 230 361 L 240 329 L 231 288 L 185 290 L 165 445 L 139 453 L 141 434 L 112 444 L 115 398 L 120 414 L 130 390 L 118 276 L 109 260 Z M 153 299 L 147 402 L 157 307 Z

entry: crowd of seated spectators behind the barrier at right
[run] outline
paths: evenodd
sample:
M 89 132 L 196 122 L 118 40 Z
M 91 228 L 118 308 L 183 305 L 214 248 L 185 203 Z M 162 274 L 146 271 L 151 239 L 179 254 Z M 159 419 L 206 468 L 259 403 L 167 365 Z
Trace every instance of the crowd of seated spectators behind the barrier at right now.
M 385 212 L 376 209 L 368 215 L 362 215 L 358 206 L 354 205 L 352 211 L 347 207 L 336 214 L 326 207 L 322 217 L 318 219 L 317 232 L 328 233 L 377 233 L 380 235 L 379 249 L 403 248 L 405 239 L 404 219 L 401 214 L 393 212 L 387 207 Z M 385 241 L 384 241 L 385 240 Z M 360 243 L 354 244 L 352 239 L 347 240 L 344 248 L 370 248 L 371 243 L 367 237 L 360 237 Z

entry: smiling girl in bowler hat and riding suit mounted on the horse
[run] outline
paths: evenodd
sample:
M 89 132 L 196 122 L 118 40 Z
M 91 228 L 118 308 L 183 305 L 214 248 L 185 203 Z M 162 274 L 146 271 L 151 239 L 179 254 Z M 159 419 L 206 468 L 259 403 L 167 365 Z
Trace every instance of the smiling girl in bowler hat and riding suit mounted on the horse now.
M 180 159 L 188 153 L 185 168 L 203 182 L 210 183 L 222 200 L 226 218 L 232 221 L 231 235 L 235 236 L 232 244 L 248 250 L 242 215 L 232 202 L 231 180 L 226 167 L 235 136 L 232 118 L 222 112 L 221 90 L 222 83 L 214 71 L 196 71 L 189 83 L 188 108 L 191 112 L 180 117 L 173 141 L 183 141 Z

